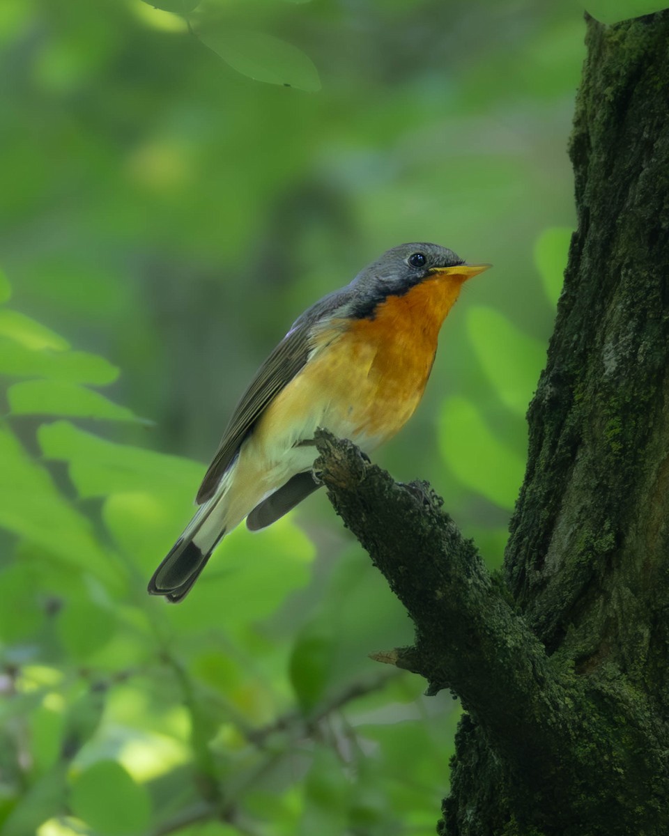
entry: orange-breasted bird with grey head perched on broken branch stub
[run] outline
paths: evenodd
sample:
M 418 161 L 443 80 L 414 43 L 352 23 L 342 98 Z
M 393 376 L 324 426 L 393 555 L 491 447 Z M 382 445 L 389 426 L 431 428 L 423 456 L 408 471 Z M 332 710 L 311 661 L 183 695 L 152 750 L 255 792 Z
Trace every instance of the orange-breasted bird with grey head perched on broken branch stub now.
M 438 244 L 401 244 L 304 311 L 232 412 L 197 512 L 148 592 L 181 601 L 245 517 L 265 528 L 317 490 L 317 428 L 365 453 L 395 436 L 421 400 L 462 284 L 489 267 Z

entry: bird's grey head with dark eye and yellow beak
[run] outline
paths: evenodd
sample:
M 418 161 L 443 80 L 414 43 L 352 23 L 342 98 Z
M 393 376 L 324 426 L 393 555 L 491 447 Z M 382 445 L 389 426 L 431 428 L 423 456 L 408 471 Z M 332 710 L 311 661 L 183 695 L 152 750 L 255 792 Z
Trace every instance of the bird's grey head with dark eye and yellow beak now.
M 350 315 L 360 319 L 368 317 L 387 297 L 402 296 L 416 284 L 439 273 L 452 273 L 465 281 L 488 266 L 466 264 L 455 252 L 439 244 L 400 244 L 384 252 L 350 283 L 349 288 L 355 290 Z

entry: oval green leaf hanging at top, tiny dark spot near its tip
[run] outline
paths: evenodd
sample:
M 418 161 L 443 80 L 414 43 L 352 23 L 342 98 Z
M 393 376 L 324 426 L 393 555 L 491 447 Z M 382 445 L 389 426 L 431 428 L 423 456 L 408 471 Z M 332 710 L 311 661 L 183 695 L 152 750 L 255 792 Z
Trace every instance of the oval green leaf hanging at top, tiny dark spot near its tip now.
M 263 32 L 231 31 L 227 27 L 199 33 L 199 38 L 237 73 L 251 79 L 309 93 L 320 89 L 314 62 L 292 43 Z

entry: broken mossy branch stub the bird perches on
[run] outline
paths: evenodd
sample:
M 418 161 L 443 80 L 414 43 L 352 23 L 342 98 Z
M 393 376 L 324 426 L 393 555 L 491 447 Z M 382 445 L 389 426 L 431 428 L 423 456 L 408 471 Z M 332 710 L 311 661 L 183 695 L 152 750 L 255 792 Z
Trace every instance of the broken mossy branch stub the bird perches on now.
M 450 688 L 498 752 L 554 767 L 570 715 L 561 672 L 426 482 L 402 485 L 350 441 L 316 433 L 314 475 L 416 627 L 415 645 L 377 655 Z M 544 772 L 545 778 L 545 772 Z

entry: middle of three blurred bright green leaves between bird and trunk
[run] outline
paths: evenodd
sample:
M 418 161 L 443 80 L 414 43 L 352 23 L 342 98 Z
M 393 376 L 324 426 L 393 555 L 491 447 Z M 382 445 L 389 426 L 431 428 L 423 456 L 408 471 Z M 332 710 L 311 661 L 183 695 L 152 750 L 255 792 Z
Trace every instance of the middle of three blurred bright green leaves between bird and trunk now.
M 544 344 L 523 334 L 493 308 L 470 308 L 467 333 L 503 404 L 524 415 L 544 366 Z

